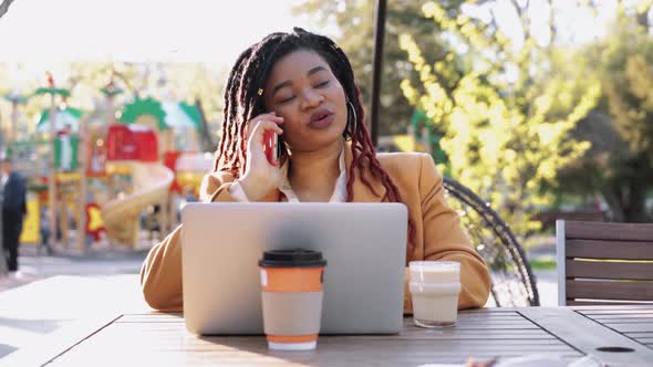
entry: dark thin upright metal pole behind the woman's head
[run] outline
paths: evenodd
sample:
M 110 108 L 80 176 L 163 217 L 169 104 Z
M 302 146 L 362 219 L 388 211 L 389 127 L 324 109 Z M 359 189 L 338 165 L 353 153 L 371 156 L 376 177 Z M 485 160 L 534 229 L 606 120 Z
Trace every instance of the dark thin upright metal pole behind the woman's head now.
M 372 144 L 379 144 L 379 97 L 381 95 L 381 73 L 383 69 L 383 36 L 385 35 L 385 0 L 376 0 L 374 12 L 374 62 L 372 69 L 372 108 L 370 112 L 370 133 Z

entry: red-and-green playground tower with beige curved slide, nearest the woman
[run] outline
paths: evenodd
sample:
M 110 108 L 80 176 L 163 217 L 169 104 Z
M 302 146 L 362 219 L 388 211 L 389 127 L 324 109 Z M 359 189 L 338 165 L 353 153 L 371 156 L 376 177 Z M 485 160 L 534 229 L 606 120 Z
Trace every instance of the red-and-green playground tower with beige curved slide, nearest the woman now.
M 106 181 L 115 198 L 102 206 L 102 217 L 110 240 L 136 247 L 142 213 L 157 208 L 159 232 L 172 230 L 177 197 L 197 196 L 213 159 L 195 153 L 199 115 L 194 106 L 136 98 L 118 115 L 122 124 L 110 125 L 106 135 Z

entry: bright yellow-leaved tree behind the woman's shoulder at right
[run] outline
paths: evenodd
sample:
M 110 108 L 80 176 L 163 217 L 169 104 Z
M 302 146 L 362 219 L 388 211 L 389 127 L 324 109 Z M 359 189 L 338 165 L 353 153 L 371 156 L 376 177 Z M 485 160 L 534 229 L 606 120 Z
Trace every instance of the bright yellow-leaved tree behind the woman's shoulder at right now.
M 467 6 L 478 7 L 473 2 L 479 3 Z M 481 2 L 490 9 L 497 3 Z M 402 90 L 445 132 L 442 146 L 452 176 L 487 198 L 524 237 L 539 228 L 531 216 L 552 202 L 558 171 L 589 148 L 568 133 L 594 106 L 600 85 L 572 67 L 578 63 L 573 50 L 556 45 L 553 21 L 542 44 L 530 32 L 528 1 L 511 4 L 521 44 L 502 34 L 494 13 L 484 21 L 425 3 L 425 18 L 447 41 L 446 55 L 434 62 L 419 40 L 403 34 L 401 46 L 421 83 L 404 80 Z

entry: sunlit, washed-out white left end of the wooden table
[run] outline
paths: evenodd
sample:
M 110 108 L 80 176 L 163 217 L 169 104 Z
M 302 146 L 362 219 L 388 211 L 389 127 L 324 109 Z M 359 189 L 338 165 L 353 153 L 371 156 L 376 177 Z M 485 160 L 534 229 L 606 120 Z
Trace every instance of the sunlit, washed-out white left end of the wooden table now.
M 44 354 L 61 352 L 56 348 L 79 342 L 71 331 L 76 331 L 79 337 L 121 313 L 148 310 L 138 274 L 58 275 L 0 292 L 0 366 L 34 366 L 6 360 L 14 360 L 14 354 L 24 356 L 23 348 Z

